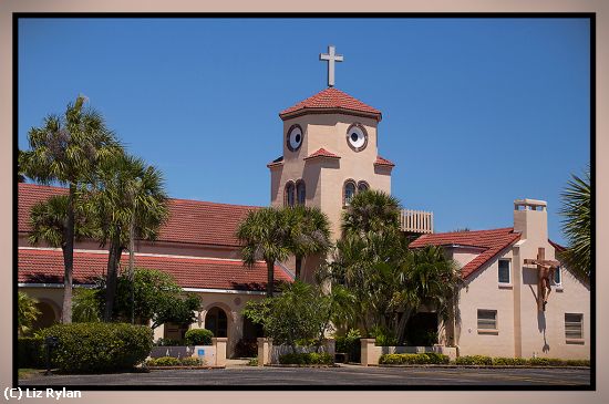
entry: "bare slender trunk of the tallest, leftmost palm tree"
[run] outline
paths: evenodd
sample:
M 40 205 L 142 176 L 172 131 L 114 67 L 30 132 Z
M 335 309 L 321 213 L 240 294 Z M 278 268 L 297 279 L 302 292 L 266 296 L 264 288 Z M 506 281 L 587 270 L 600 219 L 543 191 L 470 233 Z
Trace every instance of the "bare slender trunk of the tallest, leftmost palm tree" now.
M 74 198 L 76 188 L 70 184 L 68 196 L 68 222 L 65 224 L 65 248 L 63 249 L 63 305 L 61 320 L 64 324 L 72 322 L 72 276 L 74 273 Z

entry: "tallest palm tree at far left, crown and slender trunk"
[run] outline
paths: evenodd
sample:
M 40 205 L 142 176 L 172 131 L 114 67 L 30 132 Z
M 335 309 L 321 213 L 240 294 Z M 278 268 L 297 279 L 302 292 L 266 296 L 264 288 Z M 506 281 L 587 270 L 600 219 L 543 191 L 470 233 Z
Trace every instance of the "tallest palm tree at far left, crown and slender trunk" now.
M 42 127 L 28 133 L 30 151 L 22 154 L 23 173 L 35 182 L 68 185 L 64 226 L 65 248 L 62 321 L 72 322 L 72 272 L 74 263 L 75 194 L 87 182 L 97 163 L 121 149 L 102 116 L 83 110 L 84 97 L 69 104 L 64 116 L 49 115 Z

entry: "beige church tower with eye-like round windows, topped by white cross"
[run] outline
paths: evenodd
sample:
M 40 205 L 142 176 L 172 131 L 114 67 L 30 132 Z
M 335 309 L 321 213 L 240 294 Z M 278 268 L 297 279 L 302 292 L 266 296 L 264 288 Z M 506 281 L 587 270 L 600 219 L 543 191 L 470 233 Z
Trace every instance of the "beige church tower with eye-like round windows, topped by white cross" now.
M 336 89 L 334 46 L 328 61 L 328 87 L 283 110 L 283 154 L 267 166 L 271 175 L 271 205 L 319 207 L 340 237 L 343 208 L 360 190 L 391 193 L 394 164 L 379 156 L 381 112 Z

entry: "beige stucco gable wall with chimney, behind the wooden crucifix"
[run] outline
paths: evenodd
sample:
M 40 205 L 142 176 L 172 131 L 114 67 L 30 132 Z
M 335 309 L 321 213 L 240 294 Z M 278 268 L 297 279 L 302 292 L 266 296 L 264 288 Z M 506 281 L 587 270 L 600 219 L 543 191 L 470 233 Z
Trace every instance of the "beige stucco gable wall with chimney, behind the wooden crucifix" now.
M 555 259 L 555 248 L 547 238 L 545 210 L 515 210 L 515 231 L 522 238 L 493 261 L 467 279 L 460 293 L 460 321 L 456 343 L 461 355 L 546 356 L 561 359 L 590 358 L 590 291 L 567 269 L 561 268 L 561 287 L 553 284 L 545 312 L 537 309 L 537 269 L 524 266 L 524 259 L 536 258 L 538 248 L 546 259 Z M 526 237 L 525 237 L 526 236 Z M 471 255 L 452 250 L 464 265 Z M 498 284 L 498 259 L 512 259 L 512 287 Z M 497 310 L 498 332 L 477 332 L 477 310 Z M 584 315 L 584 339 L 567 342 L 565 313 Z

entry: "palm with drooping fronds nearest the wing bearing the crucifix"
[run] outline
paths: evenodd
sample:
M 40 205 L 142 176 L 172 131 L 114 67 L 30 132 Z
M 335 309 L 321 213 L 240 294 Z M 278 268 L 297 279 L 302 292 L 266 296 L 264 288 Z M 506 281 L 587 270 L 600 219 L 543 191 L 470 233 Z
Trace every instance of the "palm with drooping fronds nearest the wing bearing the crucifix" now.
M 422 304 L 433 307 L 440 318 L 448 318 L 462 278 L 456 262 L 444 256 L 442 247 L 426 246 L 409 251 L 399 281 L 403 313 L 398 325 L 398 343 L 403 344 L 406 322 Z

